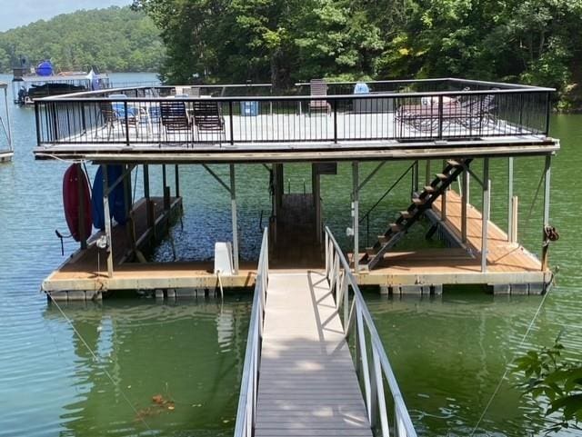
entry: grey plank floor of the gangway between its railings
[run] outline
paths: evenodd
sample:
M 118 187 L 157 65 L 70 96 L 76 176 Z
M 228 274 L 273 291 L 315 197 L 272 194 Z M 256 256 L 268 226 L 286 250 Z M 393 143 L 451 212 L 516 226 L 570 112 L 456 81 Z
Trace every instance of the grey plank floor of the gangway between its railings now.
M 372 435 L 323 273 L 269 275 L 257 399 L 257 437 Z

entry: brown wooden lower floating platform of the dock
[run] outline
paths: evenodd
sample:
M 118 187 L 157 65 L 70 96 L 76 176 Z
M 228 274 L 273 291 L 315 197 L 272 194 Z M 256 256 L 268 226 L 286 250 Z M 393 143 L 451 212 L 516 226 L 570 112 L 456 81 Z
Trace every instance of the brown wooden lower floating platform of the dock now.
M 162 198 L 152 198 L 156 205 L 156 229 L 167 226 L 172 217 L 181 213 L 181 198 L 172 198 L 165 210 Z M 457 246 L 417 251 L 390 251 L 371 271 L 356 274 L 359 285 L 379 286 L 383 293 L 440 294 L 443 286 L 482 285 L 493 293 L 539 294 L 547 291 L 553 273 L 542 269 L 537 257 L 518 243 L 509 243 L 507 234 L 489 222 L 487 226 L 487 271 L 481 271 L 482 216 L 477 208 L 467 206 L 467 242 L 461 239 L 461 198 L 454 191 L 447 193 L 447 218 L 440 219 L 440 203 L 426 214 L 441 228 L 447 239 Z M 146 203 L 135 204 L 135 244 L 141 250 L 146 243 L 163 235 L 163 230 L 147 226 Z M 214 273 L 213 262 L 131 263 L 132 239 L 122 226 L 113 230 L 115 270 L 107 274 L 105 251 L 97 249 L 95 237 L 85 251 L 78 251 L 42 283 L 42 290 L 53 298 L 85 300 L 100 298 L 103 293 L 118 290 L 141 290 L 157 297 L 196 296 L 223 287 L 246 288 L 255 285 L 256 262 L 241 262 L 238 273 Z M 98 234 L 96 235 L 98 236 Z M 156 237 L 156 238 L 154 238 Z M 454 244 L 453 244 L 454 245 Z M 320 262 L 311 260 L 293 263 L 287 256 L 272 254 L 274 273 L 294 272 L 299 268 L 323 271 Z M 280 260 L 277 263 L 277 259 Z M 305 260 L 304 260 L 305 261 Z

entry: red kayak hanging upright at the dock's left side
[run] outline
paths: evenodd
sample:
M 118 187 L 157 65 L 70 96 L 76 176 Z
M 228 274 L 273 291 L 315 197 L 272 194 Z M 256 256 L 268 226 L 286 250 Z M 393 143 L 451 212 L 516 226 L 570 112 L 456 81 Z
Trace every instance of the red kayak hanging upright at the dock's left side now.
M 93 225 L 91 221 L 91 194 L 81 164 L 72 164 L 66 169 L 63 177 L 63 206 L 65 207 L 66 224 L 68 224 L 69 231 L 77 242 L 81 241 L 79 211 L 82 208 L 85 214 L 83 239 L 89 238 Z

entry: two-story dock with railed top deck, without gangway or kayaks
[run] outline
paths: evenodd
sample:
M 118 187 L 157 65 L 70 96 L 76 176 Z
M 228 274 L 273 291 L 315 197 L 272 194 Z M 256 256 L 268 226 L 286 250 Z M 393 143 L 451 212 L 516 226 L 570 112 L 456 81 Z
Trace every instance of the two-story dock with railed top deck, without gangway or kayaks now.
M 79 252 L 45 279 L 43 290 L 65 298 L 98 297 L 119 289 L 152 290 L 167 297 L 214 289 L 219 282 L 251 286 L 256 263 L 239 262 L 236 209 L 241 190 L 236 173 L 247 164 L 264 164 L 271 174 L 275 265 L 323 266 L 320 181 L 322 174 L 335 173 L 338 163 L 352 168 L 352 207 L 346 216 L 351 216 L 354 238 L 344 249 L 358 283 L 379 285 L 388 293 L 441 293 L 448 284 L 482 284 L 496 293 L 547 289 L 552 281 L 547 265 L 553 238 L 550 167 L 559 149 L 559 142 L 548 136 L 552 89 L 452 78 L 374 82 L 368 94 L 351 94 L 354 84 L 347 83 L 326 84 L 322 94 L 314 81 L 299 84 L 298 95 L 276 96 L 270 90 L 257 95 L 266 89 L 261 86 L 255 93 L 247 85 L 222 87 L 219 95 L 212 87 L 136 87 L 37 101 L 37 159 L 87 161 L 104 169 L 121 165 L 122 175 L 115 181 L 104 178 L 101 193 L 115 190 L 115 184 L 131 193 L 132 172 L 138 167 L 145 186 L 144 198 L 126 205 L 127 223 L 115 223 L 105 214 L 103 231 L 88 243 L 83 239 Z M 517 238 L 513 169 L 522 156 L 541 158 L 541 260 Z M 493 160 L 507 162 L 507 229 L 489 220 Z M 374 175 L 402 161 L 410 164 L 409 202 L 401 205 L 396 219 L 386 217 L 385 232 L 364 242 L 369 235 L 363 236 L 360 195 L 384 191 L 375 186 Z M 371 173 L 361 171 L 364 162 L 374 163 Z M 285 193 L 288 163 L 311 164 L 310 194 Z M 163 198 L 149 195 L 152 165 L 163 168 Z M 188 165 L 212 174 L 232 204 L 232 269 L 220 281 L 212 262 L 131 262 L 145 261 L 137 256 L 142 246 L 161 235 L 160 225 L 168 223 L 171 212 L 179 212 L 179 170 Z M 219 165 L 227 177 L 216 173 Z M 480 210 L 470 204 L 469 190 L 473 198 L 475 190 L 481 194 Z M 107 196 L 104 200 L 108 208 Z M 425 218 L 434 224 L 431 233 L 448 247 L 400 249 L 409 229 Z

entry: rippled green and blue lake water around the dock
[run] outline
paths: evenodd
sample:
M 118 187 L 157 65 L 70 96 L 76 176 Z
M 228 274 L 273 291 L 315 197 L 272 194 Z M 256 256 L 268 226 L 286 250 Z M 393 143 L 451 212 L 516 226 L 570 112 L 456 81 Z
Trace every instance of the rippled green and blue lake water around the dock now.
M 118 82 L 152 79 L 144 74 L 114 77 Z M 103 303 L 68 303 L 62 312 L 46 303 L 40 283 L 65 260 L 55 229 L 66 230 L 61 187 L 67 164 L 35 161 L 34 111 L 11 109 L 15 158 L 0 165 L 0 436 L 231 435 L 250 293 L 229 293 L 224 303 L 215 299 L 160 303 L 135 295 Z M 550 263 L 559 266 L 559 272 L 523 344 L 540 296 L 494 297 L 461 287 L 446 289 L 434 299 L 388 299 L 366 291 L 421 435 L 470 435 L 507 363 L 529 348 L 551 345 L 561 330 L 568 353 L 580 360 L 582 211 L 576 202 L 580 189 L 575 175 L 582 168 L 577 151 L 582 116 L 554 116 L 551 126 L 552 135 L 562 141 L 553 160 L 551 199 L 551 222 L 561 238 L 551 247 Z M 362 212 L 408 164 L 385 165 L 362 194 Z M 492 218 L 504 227 L 507 160 L 491 164 Z M 539 253 L 541 192 L 534 199 L 543 158 L 518 158 L 515 165 L 519 240 Z M 93 165 L 87 167 L 95 174 Z M 362 164 L 362 175 L 372 168 L 373 164 Z M 226 175 L 228 169 L 216 166 L 216 172 Z M 308 189 L 309 172 L 306 165 L 289 166 L 286 183 L 291 191 L 301 192 L 304 179 Z M 241 253 L 253 259 L 260 245 L 261 213 L 265 224 L 270 211 L 268 173 L 260 165 L 237 166 L 236 177 Z M 152 179 L 154 194 L 161 194 L 159 168 L 152 169 Z M 140 180 L 138 174 L 136 196 L 142 189 Z M 350 188 L 348 165 L 340 164 L 337 175 L 322 178 L 325 220 L 343 244 L 349 243 L 345 234 L 350 225 Z M 214 242 L 230 239 L 230 200 L 224 188 L 197 166 L 181 169 L 181 190 L 185 215 L 172 231 L 176 257 L 210 259 Z M 409 192 L 406 179 L 372 214 L 370 235 L 406 206 Z M 479 205 L 477 184 L 472 201 Z M 406 246 L 438 246 L 424 240 L 424 230 L 408 235 Z M 365 229 L 360 239 L 365 241 Z M 74 250 L 74 243 L 65 242 L 65 256 Z M 153 257 L 173 258 L 169 240 Z M 475 435 L 544 435 L 551 419 L 520 396 L 516 382 L 509 374 L 501 384 Z M 157 395 L 161 402 L 153 402 Z

